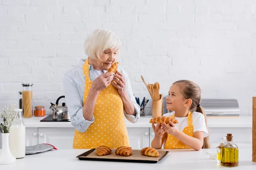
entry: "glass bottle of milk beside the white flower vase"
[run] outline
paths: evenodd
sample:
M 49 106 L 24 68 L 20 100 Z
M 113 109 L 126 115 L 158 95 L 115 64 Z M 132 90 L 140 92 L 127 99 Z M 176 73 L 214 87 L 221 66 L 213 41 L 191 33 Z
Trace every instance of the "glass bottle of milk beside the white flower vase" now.
M 22 109 L 15 109 L 16 117 L 10 127 L 9 147 L 15 158 L 25 156 L 25 125 L 22 121 Z

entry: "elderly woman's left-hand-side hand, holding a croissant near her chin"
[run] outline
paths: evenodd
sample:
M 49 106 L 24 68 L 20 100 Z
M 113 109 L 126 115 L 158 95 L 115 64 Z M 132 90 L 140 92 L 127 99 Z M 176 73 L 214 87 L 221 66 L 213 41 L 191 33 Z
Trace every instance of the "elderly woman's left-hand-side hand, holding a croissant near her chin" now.
M 105 73 L 93 80 L 92 89 L 95 91 L 102 91 L 110 85 L 113 80 L 114 73 Z

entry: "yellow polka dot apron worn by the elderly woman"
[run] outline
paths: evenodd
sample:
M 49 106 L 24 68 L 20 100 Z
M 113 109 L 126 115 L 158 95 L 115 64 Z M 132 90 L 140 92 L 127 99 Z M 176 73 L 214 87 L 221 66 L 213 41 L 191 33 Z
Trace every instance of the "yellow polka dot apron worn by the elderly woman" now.
M 84 62 L 83 72 L 85 78 L 84 105 L 92 85 L 88 59 Z M 113 149 L 120 146 L 130 147 L 123 102 L 112 84 L 99 92 L 93 116 L 94 122 L 84 133 L 75 130 L 73 149 L 91 149 L 101 145 Z

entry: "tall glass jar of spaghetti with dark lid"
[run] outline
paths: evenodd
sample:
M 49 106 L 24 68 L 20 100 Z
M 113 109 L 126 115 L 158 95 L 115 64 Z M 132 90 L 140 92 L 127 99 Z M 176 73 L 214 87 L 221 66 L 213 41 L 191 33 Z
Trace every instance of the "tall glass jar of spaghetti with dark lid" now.
M 22 91 L 22 110 L 23 110 L 23 117 L 30 118 L 32 117 L 33 113 L 33 106 L 32 106 L 32 85 L 33 84 L 22 84 L 23 91 Z

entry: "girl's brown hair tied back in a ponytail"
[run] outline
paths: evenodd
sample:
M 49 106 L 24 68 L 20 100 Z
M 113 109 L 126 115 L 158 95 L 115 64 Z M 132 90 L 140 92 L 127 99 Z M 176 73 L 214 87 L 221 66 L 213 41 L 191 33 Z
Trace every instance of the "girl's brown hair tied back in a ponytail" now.
M 178 85 L 180 87 L 180 93 L 183 95 L 185 99 L 192 100 L 190 111 L 202 113 L 204 115 L 205 124 L 207 125 L 207 116 L 204 113 L 204 109 L 199 105 L 201 101 L 200 87 L 195 82 L 192 82 L 190 80 L 179 80 L 177 82 L 174 82 L 173 84 Z M 204 144 L 202 148 L 210 148 L 209 136 L 204 138 Z

